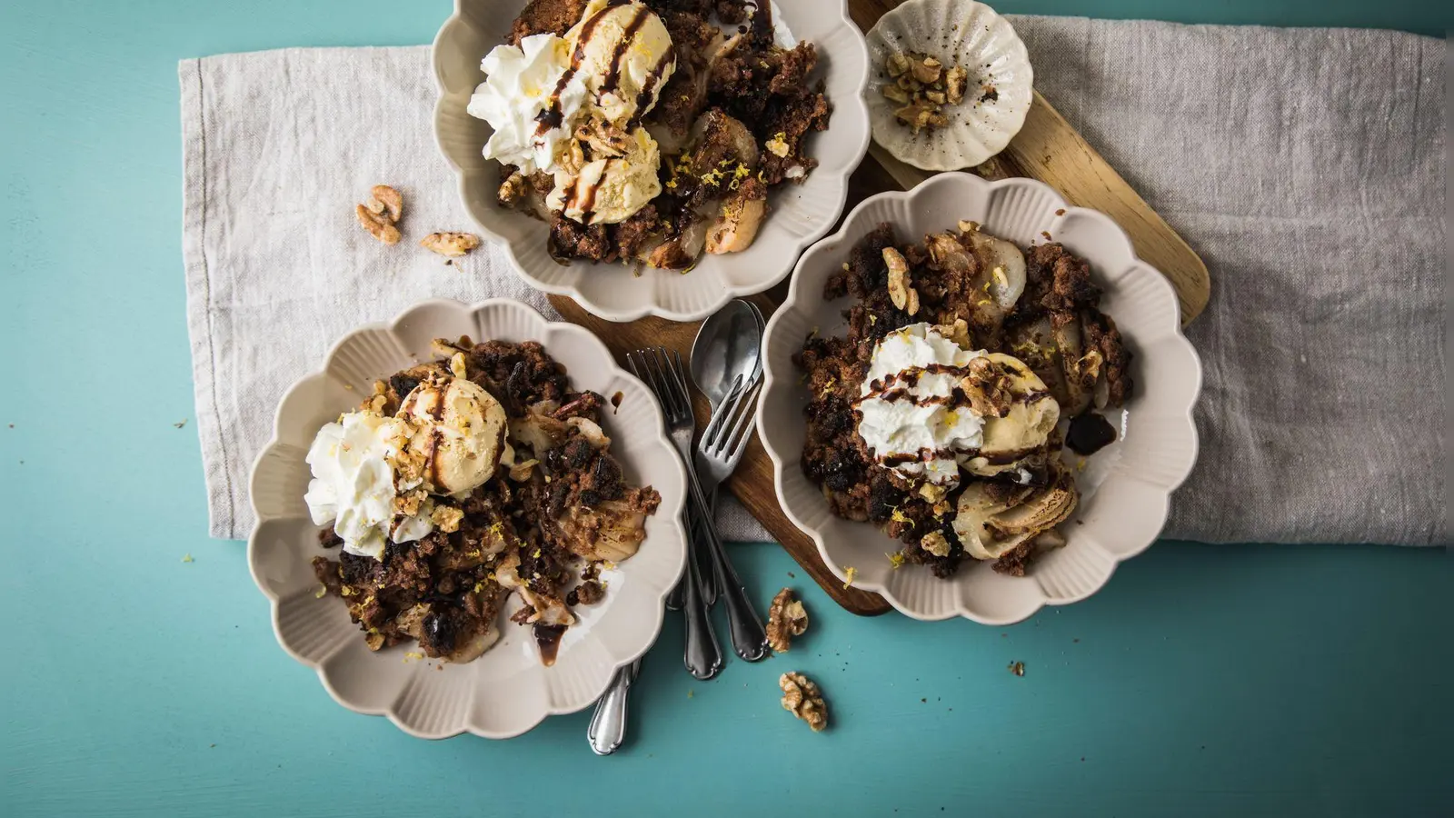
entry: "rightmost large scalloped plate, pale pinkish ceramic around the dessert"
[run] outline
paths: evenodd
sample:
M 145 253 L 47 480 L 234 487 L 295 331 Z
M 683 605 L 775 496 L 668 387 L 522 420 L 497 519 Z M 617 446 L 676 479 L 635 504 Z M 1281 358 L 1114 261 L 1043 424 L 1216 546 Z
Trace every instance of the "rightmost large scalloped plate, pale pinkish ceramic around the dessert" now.
M 1059 215 L 1057 215 L 1059 214 Z M 900 240 L 920 240 L 955 221 L 979 221 L 984 230 L 1021 247 L 1043 242 L 1048 231 L 1090 262 L 1105 287 L 1102 309 L 1115 319 L 1136 355 L 1136 393 L 1118 413 L 1106 413 L 1121 440 L 1086 460 L 1077 474 L 1082 501 L 1061 528 L 1069 541 L 1043 555 L 1028 576 L 1006 576 L 989 563 L 970 562 L 952 579 L 904 565 L 894 571 L 885 552 L 894 541 L 875 527 L 829 512 L 827 501 L 800 467 L 807 435 L 792 355 L 814 329 L 846 330 L 849 298 L 823 300 L 823 284 L 840 269 L 852 246 L 878 224 L 891 223 Z M 1136 258 L 1131 242 L 1109 217 L 1069 207 L 1053 189 L 1032 179 L 986 182 L 968 173 L 942 173 L 909 192 L 880 194 L 859 204 L 838 233 L 798 261 L 788 298 L 768 322 L 758 434 L 772 457 L 778 502 L 788 518 L 813 537 L 819 555 L 840 579 L 853 566 L 855 588 L 877 591 L 915 619 L 963 616 L 984 624 L 1019 622 L 1041 605 L 1083 600 L 1111 578 L 1118 562 L 1156 540 L 1166 523 L 1169 498 L 1197 460 L 1197 428 L 1191 410 L 1201 392 L 1201 361 L 1181 333 L 1176 294 L 1160 272 Z

